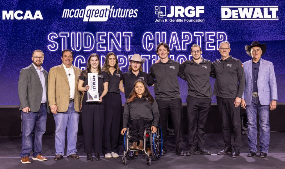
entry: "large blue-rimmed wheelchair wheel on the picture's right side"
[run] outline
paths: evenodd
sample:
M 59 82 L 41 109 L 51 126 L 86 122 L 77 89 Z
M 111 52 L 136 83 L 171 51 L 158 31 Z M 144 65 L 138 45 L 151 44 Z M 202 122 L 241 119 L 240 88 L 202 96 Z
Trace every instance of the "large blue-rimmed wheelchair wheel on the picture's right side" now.
M 150 147 L 152 150 L 152 157 L 154 161 L 160 159 L 162 154 L 162 130 L 160 124 L 157 125 L 157 130 L 155 133 L 152 133 L 150 130 L 149 138 L 150 138 Z

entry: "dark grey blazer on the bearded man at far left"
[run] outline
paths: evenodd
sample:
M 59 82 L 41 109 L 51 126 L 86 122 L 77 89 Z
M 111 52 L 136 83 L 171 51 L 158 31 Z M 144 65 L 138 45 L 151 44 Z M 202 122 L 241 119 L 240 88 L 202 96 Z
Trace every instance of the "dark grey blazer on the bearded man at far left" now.
M 43 73 L 47 94 L 47 78 L 49 73 L 47 73 L 45 70 Z M 40 110 L 40 104 L 42 101 L 42 83 L 33 64 L 21 70 L 18 84 L 18 94 L 20 99 L 19 110 L 26 107 L 30 107 L 31 112 L 37 112 Z M 47 98 L 47 112 L 49 113 L 48 105 L 49 102 Z

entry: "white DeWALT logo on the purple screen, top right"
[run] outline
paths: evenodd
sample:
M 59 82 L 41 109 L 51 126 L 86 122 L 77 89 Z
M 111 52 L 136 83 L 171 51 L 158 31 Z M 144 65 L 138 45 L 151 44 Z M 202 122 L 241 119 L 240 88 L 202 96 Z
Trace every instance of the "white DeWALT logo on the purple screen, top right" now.
M 278 6 L 222 6 L 222 20 L 279 20 Z

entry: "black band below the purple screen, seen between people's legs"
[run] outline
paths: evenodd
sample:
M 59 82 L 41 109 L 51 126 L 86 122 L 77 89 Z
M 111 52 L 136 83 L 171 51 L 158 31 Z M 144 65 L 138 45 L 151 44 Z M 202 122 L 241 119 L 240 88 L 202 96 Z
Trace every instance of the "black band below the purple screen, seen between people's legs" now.
M 269 123 L 270 131 L 285 132 L 285 103 L 278 103 L 277 108 L 270 111 Z M 124 107 L 122 108 L 122 112 Z M 241 116 L 244 117 L 244 124 L 246 124 L 246 113 L 241 109 Z M 21 134 L 21 113 L 19 112 L 19 105 L 1 105 L 0 106 L 0 136 L 19 136 Z M 257 119 L 258 121 L 258 119 Z M 186 116 L 186 104 L 183 104 L 183 133 L 188 133 L 188 122 Z M 211 104 L 211 112 L 206 123 L 207 133 L 221 133 L 222 124 L 218 112 L 217 103 Z M 52 113 L 47 115 L 47 127 L 44 135 L 55 134 L 55 122 Z M 81 116 L 79 119 L 78 135 L 82 135 Z M 1 168 L 1 167 L 0 167 Z

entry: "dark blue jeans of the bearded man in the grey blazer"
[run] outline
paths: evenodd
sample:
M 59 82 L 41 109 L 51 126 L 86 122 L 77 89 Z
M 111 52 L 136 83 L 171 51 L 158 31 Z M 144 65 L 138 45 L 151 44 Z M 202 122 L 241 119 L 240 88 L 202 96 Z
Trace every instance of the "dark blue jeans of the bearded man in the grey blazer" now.
M 42 135 L 46 131 L 47 105 L 41 105 L 38 112 L 22 114 L 22 151 L 20 157 L 30 156 L 33 150 L 33 157 L 42 154 Z M 34 136 L 32 138 L 32 133 Z

